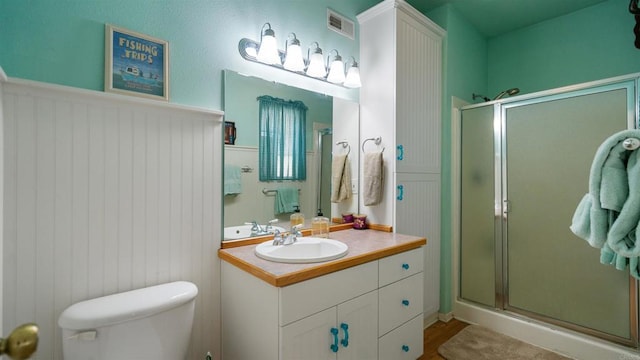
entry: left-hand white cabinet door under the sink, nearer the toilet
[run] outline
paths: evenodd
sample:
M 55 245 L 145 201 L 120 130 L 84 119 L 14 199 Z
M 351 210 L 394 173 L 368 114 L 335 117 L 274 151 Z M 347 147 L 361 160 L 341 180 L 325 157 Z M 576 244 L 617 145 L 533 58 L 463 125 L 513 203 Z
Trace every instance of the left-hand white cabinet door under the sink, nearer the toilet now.
M 340 334 L 331 333 L 335 327 L 335 307 L 281 327 L 280 359 L 336 360 L 331 345 Z

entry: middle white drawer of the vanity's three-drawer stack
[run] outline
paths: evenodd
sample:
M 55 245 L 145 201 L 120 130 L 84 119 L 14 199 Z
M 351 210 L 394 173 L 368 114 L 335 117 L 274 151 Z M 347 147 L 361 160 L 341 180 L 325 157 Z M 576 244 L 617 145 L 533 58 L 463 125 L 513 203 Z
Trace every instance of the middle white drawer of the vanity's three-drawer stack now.
M 423 275 L 418 273 L 378 290 L 379 336 L 422 313 Z

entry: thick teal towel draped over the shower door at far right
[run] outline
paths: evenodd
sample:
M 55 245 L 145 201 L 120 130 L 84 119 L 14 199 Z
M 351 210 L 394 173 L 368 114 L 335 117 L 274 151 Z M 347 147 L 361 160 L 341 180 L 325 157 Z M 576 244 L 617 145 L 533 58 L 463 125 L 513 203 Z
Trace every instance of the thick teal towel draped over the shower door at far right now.
M 623 270 L 629 265 L 639 278 L 640 150 L 627 150 L 623 141 L 640 138 L 640 130 L 624 130 L 607 138 L 596 150 L 587 193 L 573 215 L 570 229 L 589 245 L 600 248 L 600 262 Z

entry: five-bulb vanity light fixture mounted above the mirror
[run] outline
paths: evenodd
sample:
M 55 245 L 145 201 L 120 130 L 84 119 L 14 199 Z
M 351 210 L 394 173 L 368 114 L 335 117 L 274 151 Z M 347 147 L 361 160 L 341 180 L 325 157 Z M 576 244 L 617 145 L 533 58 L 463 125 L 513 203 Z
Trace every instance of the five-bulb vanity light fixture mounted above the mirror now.
M 279 50 L 276 45 L 275 31 L 271 28 L 270 23 L 265 23 L 262 26 L 259 43 L 247 38 L 240 39 L 238 51 L 240 56 L 248 61 L 273 66 L 346 88 L 359 88 L 362 86 L 358 63 L 353 56 L 351 57 L 353 61 L 350 62 L 351 66 L 345 77 L 345 63 L 342 61 L 342 56 L 340 56 L 338 50 L 333 49 L 329 52 L 327 62 L 331 59 L 332 61 L 329 62 L 328 69 L 318 42 L 314 41 L 309 45 L 307 59 L 305 59 L 302 56 L 300 40 L 298 40 L 295 33 L 290 33 L 285 40 L 285 50 Z M 335 55 L 332 57 L 331 55 L 334 53 Z M 327 70 L 329 70 L 329 75 L 327 75 Z

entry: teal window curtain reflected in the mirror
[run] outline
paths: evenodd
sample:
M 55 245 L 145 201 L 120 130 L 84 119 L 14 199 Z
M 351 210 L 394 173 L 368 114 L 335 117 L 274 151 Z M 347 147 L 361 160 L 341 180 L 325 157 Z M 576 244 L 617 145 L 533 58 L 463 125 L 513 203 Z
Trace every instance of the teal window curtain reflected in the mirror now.
M 307 107 L 266 95 L 258 101 L 260 181 L 306 180 Z

